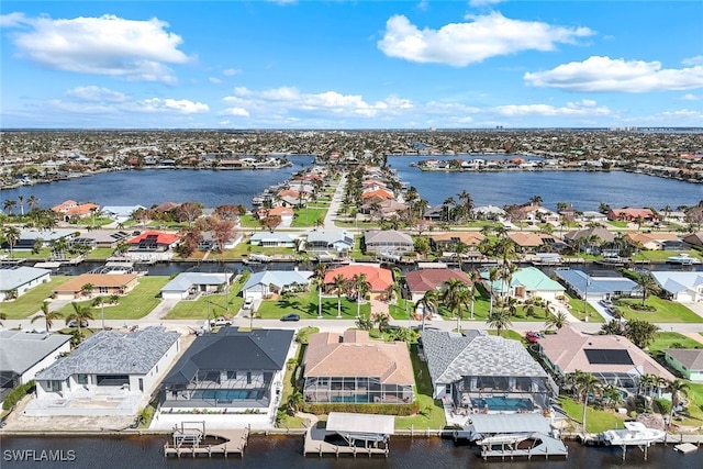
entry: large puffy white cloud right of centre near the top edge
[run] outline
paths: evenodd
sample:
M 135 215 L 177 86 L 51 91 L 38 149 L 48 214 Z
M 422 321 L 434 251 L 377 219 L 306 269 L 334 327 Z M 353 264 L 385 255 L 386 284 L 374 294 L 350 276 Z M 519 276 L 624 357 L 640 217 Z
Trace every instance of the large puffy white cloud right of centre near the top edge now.
M 408 18 L 394 15 L 386 23 L 383 38 L 377 45 L 390 57 L 464 67 L 498 55 L 554 51 L 557 44 L 573 44 L 594 34 L 588 27 L 511 20 L 498 12 L 466 19 L 471 21 L 446 24 L 439 30 L 420 30 Z

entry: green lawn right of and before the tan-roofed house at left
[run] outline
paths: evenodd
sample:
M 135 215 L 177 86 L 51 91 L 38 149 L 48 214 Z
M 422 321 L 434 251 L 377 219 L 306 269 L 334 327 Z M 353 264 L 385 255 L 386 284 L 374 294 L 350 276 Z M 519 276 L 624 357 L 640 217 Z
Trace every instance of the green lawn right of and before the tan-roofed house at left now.
M 145 276 L 140 277 L 140 283 L 124 297 L 120 297 L 116 305 L 104 308 L 105 320 L 138 320 L 146 316 L 160 302 L 160 290 L 168 283 L 170 277 L 167 276 Z M 78 304 L 90 306 L 92 300 L 80 301 Z M 101 317 L 100 308 L 91 308 L 94 321 Z M 69 303 L 60 310 L 66 317 L 74 312 L 74 306 Z

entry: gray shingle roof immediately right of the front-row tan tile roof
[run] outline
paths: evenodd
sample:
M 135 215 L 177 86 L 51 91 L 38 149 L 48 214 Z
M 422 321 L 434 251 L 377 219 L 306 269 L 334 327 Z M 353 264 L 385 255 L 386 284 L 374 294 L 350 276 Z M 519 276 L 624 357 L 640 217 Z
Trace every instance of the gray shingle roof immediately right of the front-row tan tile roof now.
M 547 376 L 520 342 L 481 331 L 425 331 L 422 343 L 434 382 L 449 383 L 467 376 Z

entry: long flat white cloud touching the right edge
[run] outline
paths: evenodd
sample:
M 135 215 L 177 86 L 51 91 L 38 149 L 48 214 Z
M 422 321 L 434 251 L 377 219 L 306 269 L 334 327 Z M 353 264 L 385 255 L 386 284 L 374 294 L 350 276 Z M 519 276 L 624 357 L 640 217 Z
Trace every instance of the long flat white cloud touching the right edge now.
M 569 91 L 650 92 L 703 87 L 703 66 L 662 69 L 660 62 L 591 56 L 583 62 L 562 64 L 547 71 L 523 76 L 534 87 Z

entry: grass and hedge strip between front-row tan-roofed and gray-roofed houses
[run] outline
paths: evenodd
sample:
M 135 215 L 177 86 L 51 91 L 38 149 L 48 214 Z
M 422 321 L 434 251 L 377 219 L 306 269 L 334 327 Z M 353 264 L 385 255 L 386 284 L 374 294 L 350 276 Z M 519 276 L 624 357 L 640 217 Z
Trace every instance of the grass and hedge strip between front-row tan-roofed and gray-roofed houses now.
M 420 413 L 406 417 L 395 417 L 395 428 L 399 429 L 439 429 L 444 428 L 447 421 L 444 416 L 444 409 L 439 401 L 432 399 L 432 378 L 427 364 L 422 361 L 417 355 L 417 344 L 410 346 L 410 359 L 413 364 L 415 375 L 415 392 Z

